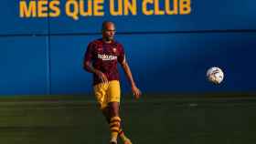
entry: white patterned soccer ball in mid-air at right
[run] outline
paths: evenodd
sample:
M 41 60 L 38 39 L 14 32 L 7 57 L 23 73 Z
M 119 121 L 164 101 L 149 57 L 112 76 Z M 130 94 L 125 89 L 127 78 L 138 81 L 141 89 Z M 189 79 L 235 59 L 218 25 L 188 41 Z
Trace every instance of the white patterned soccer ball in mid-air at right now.
M 224 73 L 219 67 L 210 67 L 207 71 L 208 81 L 220 84 L 224 78 Z

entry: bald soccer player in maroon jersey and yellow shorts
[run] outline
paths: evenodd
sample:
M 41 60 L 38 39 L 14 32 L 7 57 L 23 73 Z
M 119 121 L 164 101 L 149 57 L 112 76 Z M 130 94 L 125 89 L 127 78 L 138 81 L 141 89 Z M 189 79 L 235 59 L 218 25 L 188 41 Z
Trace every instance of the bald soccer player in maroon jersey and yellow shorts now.
M 114 40 L 115 26 L 110 21 L 102 23 L 102 38 L 92 41 L 86 50 L 84 68 L 93 73 L 93 88 L 103 115 L 111 130 L 111 144 L 117 144 L 119 136 L 124 144 L 132 144 L 121 128 L 119 106 L 121 98 L 120 78 L 117 69 L 119 62 L 128 78 L 135 98 L 141 96 L 136 87 L 130 67 L 125 60 L 123 46 Z

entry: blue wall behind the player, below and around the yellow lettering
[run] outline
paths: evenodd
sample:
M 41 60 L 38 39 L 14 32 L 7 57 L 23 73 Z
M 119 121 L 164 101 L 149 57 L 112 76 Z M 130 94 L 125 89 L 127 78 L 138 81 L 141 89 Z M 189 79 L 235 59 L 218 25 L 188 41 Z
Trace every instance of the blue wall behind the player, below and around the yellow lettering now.
M 18 1 L 3 1 L 0 95 L 90 93 L 91 74 L 82 69 L 82 60 L 88 43 L 101 37 L 103 20 L 116 23 L 116 39 L 143 92 L 255 92 L 256 1 L 191 3 L 190 15 L 106 13 L 75 21 L 63 14 L 20 18 Z M 225 73 L 219 86 L 206 80 L 213 66 Z

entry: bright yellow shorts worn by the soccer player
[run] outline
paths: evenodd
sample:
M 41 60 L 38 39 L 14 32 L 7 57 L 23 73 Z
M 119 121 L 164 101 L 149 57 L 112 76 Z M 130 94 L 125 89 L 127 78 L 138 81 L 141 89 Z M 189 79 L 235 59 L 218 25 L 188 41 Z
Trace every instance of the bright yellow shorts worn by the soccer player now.
M 106 108 L 110 102 L 120 102 L 121 89 L 118 80 L 97 84 L 93 89 L 101 109 Z

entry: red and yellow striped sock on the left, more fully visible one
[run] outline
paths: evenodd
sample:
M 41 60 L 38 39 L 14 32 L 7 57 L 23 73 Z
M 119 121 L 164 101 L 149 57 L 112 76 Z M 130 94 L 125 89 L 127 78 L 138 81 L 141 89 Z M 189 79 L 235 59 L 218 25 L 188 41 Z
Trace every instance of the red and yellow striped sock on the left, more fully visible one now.
M 110 129 L 111 129 L 111 136 L 112 139 L 117 139 L 119 130 L 120 130 L 120 123 L 121 118 L 119 117 L 112 117 L 110 121 Z

